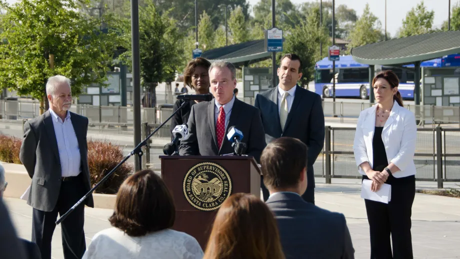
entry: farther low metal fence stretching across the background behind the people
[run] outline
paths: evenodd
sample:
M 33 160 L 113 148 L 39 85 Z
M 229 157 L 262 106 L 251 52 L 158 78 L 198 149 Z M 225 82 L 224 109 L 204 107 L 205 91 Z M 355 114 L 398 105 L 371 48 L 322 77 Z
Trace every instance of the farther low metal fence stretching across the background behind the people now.
M 253 97 L 242 101 L 254 105 Z M 357 118 L 361 110 L 370 107 L 369 102 L 331 102 L 322 101 L 325 117 Z M 419 125 L 458 124 L 460 127 L 460 106 L 405 105 L 414 112 Z M 88 117 L 90 122 L 132 123 L 133 108 L 123 106 L 95 106 L 74 104 L 71 111 Z M 141 120 L 148 123 L 161 123 L 172 113 L 172 108 L 159 105 L 158 108 L 141 108 Z M 0 118 L 24 119 L 39 115 L 39 102 L 29 100 L 0 100 Z

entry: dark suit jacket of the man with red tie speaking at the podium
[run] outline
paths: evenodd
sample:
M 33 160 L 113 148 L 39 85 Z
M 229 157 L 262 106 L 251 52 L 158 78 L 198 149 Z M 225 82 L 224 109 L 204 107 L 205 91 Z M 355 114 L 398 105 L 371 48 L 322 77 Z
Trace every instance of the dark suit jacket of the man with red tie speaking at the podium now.
M 234 151 L 226 134 L 220 148 L 217 147 L 214 106 L 214 100 L 191 106 L 187 123 L 189 137 L 181 142 L 181 155 L 221 155 Z M 241 142 L 247 144 L 246 154 L 259 161 L 260 153 L 266 145 L 260 111 L 235 98 L 225 132 L 228 132 L 230 126 L 235 126 L 243 132 Z

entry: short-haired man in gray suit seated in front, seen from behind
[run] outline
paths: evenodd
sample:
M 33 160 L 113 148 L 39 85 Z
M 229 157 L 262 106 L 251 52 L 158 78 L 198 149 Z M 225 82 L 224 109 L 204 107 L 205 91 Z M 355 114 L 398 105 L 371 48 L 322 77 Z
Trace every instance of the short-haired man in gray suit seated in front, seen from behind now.
M 300 196 L 307 185 L 307 147 L 280 137 L 262 151 L 266 204 L 275 215 L 286 259 L 350 259 L 354 249 L 345 217 L 308 203 Z

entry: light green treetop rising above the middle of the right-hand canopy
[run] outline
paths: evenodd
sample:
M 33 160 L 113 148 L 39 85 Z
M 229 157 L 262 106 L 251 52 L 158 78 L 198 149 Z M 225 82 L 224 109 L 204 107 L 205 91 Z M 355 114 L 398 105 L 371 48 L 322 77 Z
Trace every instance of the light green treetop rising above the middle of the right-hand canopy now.
M 428 11 L 423 1 L 412 7 L 402 20 L 399 37 L 428 33 L 433 25 L 434 11 Z

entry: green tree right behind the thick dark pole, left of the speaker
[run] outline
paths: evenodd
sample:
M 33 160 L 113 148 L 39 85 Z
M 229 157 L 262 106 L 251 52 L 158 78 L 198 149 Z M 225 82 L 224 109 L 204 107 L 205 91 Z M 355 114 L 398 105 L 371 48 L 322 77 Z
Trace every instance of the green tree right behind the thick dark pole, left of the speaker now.
M 145 2 L 147 5 L 139 8 L 140 78 L 145 87 L 142 104 L 144 107 L 155 107 L 158 82 L 172 80 L 182 60 L 183 48 L 178 44 L 182 34 L 167 12 L 160 15 L 153 1 Z M 128 64 L 131 63 L 130 28 L 129 20 L 125 20 L 125 47 L 128 51 L 122 57 Z

